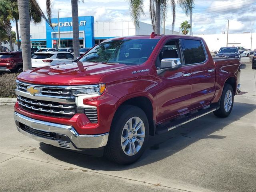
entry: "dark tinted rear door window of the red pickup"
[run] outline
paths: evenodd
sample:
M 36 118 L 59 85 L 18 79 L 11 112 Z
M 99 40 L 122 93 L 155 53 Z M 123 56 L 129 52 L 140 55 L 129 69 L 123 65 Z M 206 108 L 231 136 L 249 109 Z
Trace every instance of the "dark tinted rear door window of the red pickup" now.
M 182 39 L 183 46 L 182 52 L 184 55 L 185 64 L 201 63 L 206 60 L 204 48 L 201 41 Z

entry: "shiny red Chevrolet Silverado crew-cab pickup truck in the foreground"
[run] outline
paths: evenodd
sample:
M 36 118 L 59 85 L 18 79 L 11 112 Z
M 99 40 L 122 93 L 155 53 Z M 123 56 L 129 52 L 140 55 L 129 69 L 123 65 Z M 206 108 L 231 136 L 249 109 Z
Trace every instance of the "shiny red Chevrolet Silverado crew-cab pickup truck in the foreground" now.
M 22 134 L 43 143 L 103 149 L 130 164 L 149 135 L 210 112 L 227 117 L 239 78 L 238 58 L 212 58 L 202 38 L 112 38 L 75 62 L 22 72 L 14 119 Z

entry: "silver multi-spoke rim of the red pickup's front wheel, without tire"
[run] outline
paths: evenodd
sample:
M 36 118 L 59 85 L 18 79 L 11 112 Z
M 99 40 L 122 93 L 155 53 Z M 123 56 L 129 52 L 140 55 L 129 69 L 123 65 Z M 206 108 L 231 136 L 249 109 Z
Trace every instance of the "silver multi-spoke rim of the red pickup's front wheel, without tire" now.
M 142 148 L 145 138 L 145 126 L 141 118 L 130 118 L 123 127 L 121 147 L 128 156 L 133 156 Z

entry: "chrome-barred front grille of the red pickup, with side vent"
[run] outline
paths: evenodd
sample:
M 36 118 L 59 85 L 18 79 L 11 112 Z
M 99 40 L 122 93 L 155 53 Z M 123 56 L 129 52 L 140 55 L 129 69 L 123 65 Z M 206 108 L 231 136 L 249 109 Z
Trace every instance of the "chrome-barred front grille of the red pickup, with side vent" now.
M 76 106 L 75 96 L 70 86 L 46 86 L 28 84 L 16 81 L 18 104 L 24 110 L 54 117 L 71 118 L 76 113 L 85 114 L 90 122 L 98 123 L 97 108 L 81 108 Z M 28 94 L 28 91 L 38 90 L 38 93 Z M 24 94 L 24 92 L 26 94 Z M 28 94 L 28 95 L 27 95 Z M 39 98 L 39 99 L 37 99 Z

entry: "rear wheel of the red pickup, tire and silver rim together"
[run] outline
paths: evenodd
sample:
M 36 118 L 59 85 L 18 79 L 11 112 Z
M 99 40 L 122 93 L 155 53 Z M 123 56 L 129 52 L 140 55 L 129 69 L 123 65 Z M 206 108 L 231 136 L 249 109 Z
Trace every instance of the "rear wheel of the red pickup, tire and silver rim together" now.
M 220 99 L 220 108 L 214 111 L 217 117 L 227 117 L 232 111 L 234 104 L 234 91 L 230 84 L 225 84 Z

